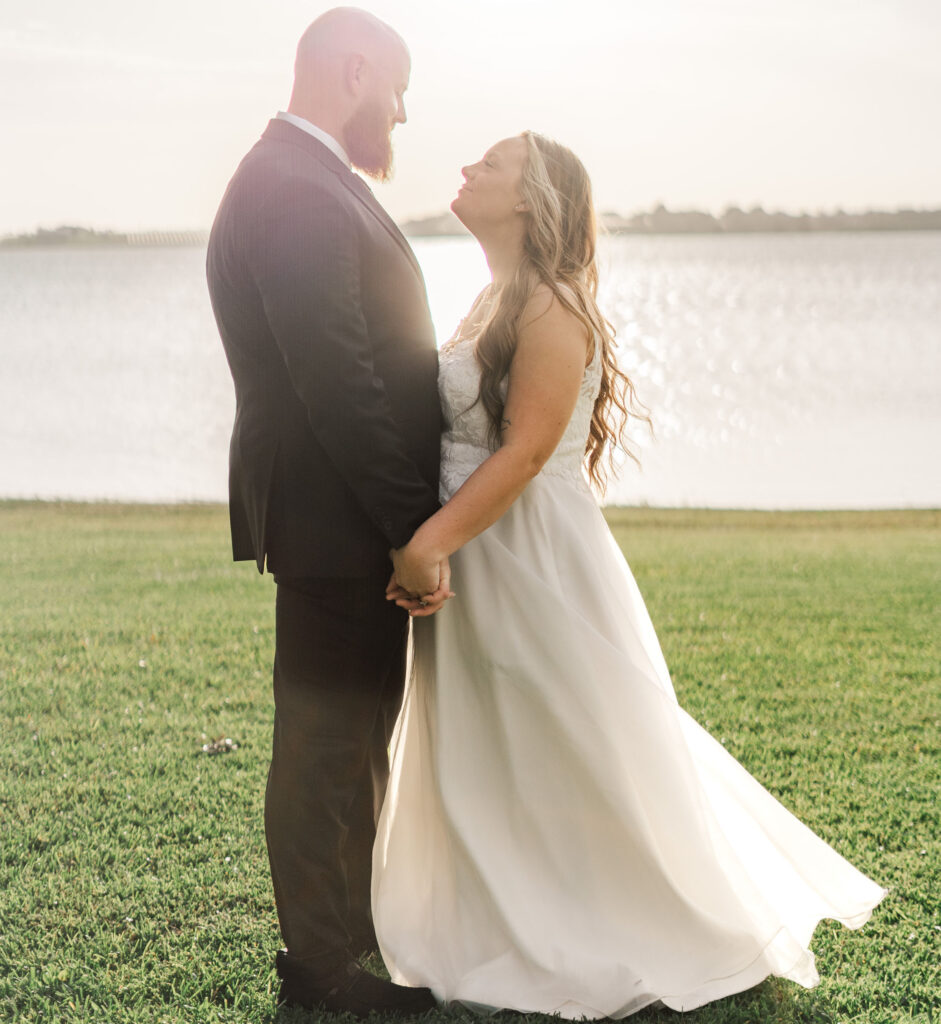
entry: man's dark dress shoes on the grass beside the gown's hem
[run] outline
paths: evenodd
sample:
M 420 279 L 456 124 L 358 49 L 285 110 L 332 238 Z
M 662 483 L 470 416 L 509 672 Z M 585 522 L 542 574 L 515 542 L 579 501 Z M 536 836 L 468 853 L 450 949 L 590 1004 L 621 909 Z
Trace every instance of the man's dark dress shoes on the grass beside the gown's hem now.
M 355 961 L 320 973 L 287 950 L 279 949 L 274 966 L 281 978 L 277 1001 L 286 1006 L 350 1013 L 354 1017 L 368 1017 L 371 1013 L 414 1017 L 437 1006 L 431 989 L 409 988 L 377 978 Z

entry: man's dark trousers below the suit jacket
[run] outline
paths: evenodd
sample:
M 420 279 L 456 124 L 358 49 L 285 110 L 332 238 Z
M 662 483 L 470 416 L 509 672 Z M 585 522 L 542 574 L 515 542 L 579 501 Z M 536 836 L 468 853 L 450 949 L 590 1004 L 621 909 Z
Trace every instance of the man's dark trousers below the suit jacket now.
M 375 942 L 373 842 L 409 616 L 385 600 L 387 578 L 274 581 L 268 860 L 288 950 L 326 968 Z

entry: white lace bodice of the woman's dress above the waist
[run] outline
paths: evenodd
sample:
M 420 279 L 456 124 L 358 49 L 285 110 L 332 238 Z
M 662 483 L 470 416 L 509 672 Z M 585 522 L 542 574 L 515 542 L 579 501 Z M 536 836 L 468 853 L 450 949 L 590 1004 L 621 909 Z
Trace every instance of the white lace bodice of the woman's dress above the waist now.
M 541 476 L 565 477 L 575 486 L 589 489 L 582 467 L 600 385 L 601 346 L 595 345 L 571 419 L 555 452 L 543 466 Z M 441 501 L 447 501 L 490 455 L 487 416 L 483 404 L 477 401 L 479 386 L 480 369 L 474 357 L 474 339 L 448 342 L 441 349 L 438 361 L 438 394 L 446 424 L 441 436 Z M 506 387 L 504 381 L 504 394 Z

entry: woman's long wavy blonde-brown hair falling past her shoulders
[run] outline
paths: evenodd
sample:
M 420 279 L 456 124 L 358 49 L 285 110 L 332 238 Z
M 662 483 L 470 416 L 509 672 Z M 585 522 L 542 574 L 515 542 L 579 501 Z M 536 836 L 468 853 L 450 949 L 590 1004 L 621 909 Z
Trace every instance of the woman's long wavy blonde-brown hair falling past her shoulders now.
M 601 346 L 601 388 L 595 399 L 585 464 L 595 488 L 604 493 L 607 470 L 617 449 L 637 462 L 625 439 L 629 418 L 650 418 L 638 400 L 631 379 L 614 359 L 614 329 L 596 302 L 597 225 L 592 185 L 582 161 L 564 145 L 524 131 L 527 147 L 520 195 L 528 210 L 523 258 L 514 278 L 496 296 L 491 312 L 477 339 L 480 367 L 478 400 L 487 414 L 490 446 L 500 446 L 504 397 L 501 385 L 510 371 L 526 304 L 540 285 L 584 326 L 594 345 Z

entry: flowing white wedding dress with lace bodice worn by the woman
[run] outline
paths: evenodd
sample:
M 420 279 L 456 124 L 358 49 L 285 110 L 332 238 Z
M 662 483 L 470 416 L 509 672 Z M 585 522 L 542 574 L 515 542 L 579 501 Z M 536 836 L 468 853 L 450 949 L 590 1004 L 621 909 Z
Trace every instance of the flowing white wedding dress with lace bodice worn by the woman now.
M 597 346 L 596 346 L 597 347 Z M 488 456 L 470 339 L 441 352 L 446 501 Z M 556 452 L 414 622 L 374 852 L 393 981 L 566 1018 L 811 986 L 817 923 L 885 895 L 677 703 L 582 464 L 598 355 Z

